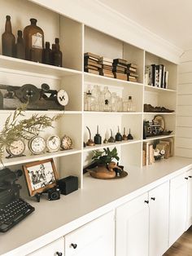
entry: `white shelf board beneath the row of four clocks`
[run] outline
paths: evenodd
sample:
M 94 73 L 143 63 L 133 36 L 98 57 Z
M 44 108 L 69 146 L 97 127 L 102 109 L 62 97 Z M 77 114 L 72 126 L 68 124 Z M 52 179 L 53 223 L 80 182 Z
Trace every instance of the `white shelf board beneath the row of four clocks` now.
M 15 166 L 15 165 L 28 163 L 31 161 L 41 161 L 41 160 L 46 160 L 54 157 L 65 157 L 65 156 L 74 155 L 80 152 L 81 150 L 73 148 L 73 149 L 63 150 L 63 151 L 60 150 L 57 152 L 46 152 L 45 154 L 42 154 L 42 155 L 31 155 L 31 156 L 14 157 L 14 158 L 8 158 L 8 159 L 3 158 L 2 163 L 3 163 L 3 166 Z M 0 166 L 2 166 L 2 164 Z

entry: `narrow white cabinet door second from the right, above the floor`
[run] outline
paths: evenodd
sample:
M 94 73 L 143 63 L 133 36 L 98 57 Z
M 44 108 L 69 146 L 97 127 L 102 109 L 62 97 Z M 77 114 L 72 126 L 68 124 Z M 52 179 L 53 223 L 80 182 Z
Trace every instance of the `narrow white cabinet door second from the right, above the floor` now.
M 169 246 L 185 232 L 187 204 L 186 173 L 170 181 Z

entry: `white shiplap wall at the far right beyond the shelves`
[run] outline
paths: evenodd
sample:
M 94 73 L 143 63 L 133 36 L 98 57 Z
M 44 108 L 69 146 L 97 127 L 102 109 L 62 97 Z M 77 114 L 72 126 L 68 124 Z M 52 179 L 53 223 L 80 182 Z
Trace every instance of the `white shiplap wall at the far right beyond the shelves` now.
M 184 52 L 178 68 L 175 154 L 192 157 L 192 50 Z

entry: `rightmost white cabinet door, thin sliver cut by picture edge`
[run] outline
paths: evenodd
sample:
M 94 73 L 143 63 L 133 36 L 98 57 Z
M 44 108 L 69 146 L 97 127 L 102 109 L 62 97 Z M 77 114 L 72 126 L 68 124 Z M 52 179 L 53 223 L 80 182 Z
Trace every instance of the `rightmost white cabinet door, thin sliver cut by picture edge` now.
M 187 219 L 186 229 L 192 225 L 192 170 L 186 173 L 187 180 Z

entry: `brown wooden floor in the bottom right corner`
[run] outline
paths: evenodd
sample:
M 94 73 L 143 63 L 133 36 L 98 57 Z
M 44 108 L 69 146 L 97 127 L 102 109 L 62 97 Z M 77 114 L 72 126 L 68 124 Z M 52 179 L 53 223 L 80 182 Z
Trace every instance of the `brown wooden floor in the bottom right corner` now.
M 168 249 L 164 256 L 192 256 L 192 226 Z

